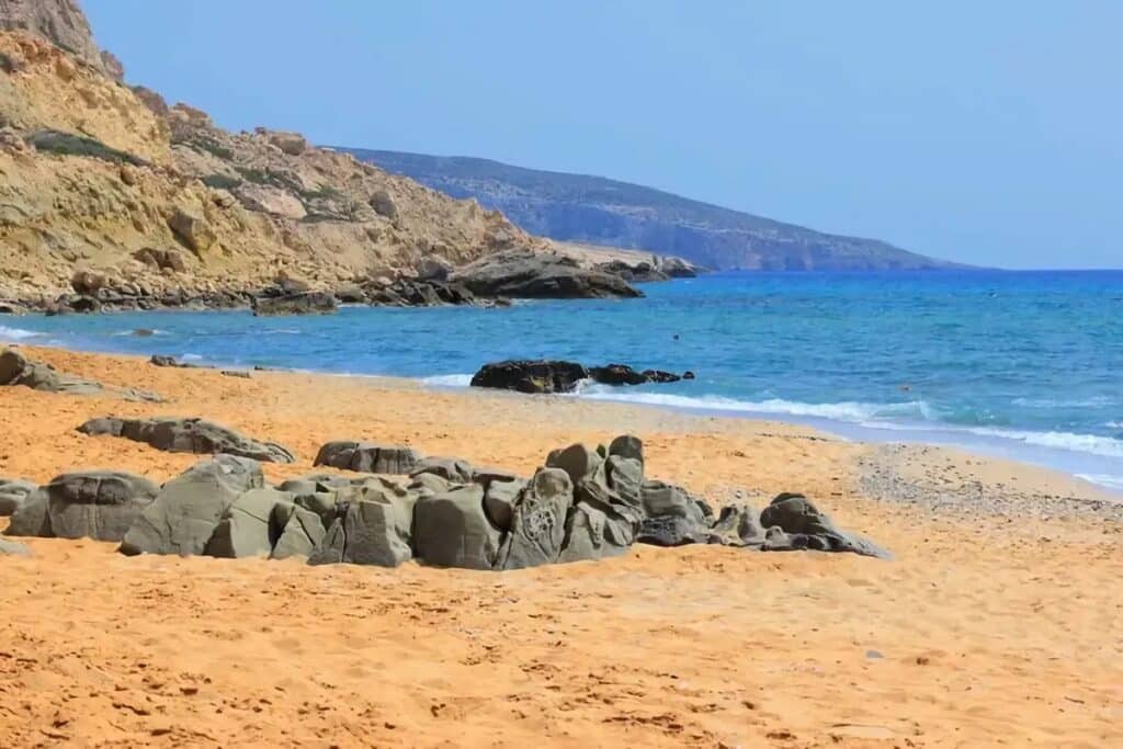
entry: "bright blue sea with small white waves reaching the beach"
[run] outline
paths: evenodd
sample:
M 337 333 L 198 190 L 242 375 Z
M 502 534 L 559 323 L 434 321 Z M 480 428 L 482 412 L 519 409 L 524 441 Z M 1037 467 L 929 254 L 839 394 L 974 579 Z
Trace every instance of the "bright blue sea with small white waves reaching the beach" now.
M 1123 271 L 715 273 L 640 300 L 0 318 L 0 340 L 467 387 L 484 363 L 692 371 L 574 398 L 956 445 L 1123 493 Z M 149 330 L 154 335 L 137 335 Z

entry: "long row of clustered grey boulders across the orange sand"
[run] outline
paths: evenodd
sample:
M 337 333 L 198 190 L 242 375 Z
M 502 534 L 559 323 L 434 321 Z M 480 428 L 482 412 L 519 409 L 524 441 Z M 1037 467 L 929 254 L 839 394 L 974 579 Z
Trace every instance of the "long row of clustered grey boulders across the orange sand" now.
M 418 559 L 489 570 L 595 560 L 636 542 L 887 556 L 838 529 L 801 494 L 780 494 L 760 513 L 738 504 L 714 517 L 704 500 L 647 478 L 642 442 L 630 435 L 554 450 L 529 478 L 363 441 L 329 442 L 316 464 L 356 475 L 313 474 L 270 486 L 256 460 L 220 454 L 163 487 L 97 471 L 37 488 L 0 479 L 0 496 L 15 497 L 8 536 L 120 541 L 127 555 L 382 567 Z

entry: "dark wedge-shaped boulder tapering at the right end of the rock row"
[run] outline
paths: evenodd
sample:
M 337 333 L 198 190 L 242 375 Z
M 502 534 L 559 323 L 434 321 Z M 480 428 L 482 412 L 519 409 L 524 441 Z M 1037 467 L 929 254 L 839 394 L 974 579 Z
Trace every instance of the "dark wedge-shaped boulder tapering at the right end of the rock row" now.
M 760 513 L 765 551 L 849 551 L 867 557 L 891 555 L 869 539 L 840 530 L 802 494 L 783 493 Z

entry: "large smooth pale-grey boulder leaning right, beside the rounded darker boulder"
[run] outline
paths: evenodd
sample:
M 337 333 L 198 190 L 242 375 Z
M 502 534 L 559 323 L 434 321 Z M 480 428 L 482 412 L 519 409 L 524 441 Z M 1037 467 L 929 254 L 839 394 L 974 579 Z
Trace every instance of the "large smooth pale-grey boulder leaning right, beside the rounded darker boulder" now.
M 202 554 L 227 510 L 264 486 L 256 460 L 218 455 L 164 484 L 125 533 L 122 554 Z

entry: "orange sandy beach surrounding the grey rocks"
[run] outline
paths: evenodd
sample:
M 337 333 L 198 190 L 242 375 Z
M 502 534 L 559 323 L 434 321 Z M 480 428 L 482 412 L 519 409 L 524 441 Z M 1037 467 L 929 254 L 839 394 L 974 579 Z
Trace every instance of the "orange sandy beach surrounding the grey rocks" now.
M 30 557 L 0 557 L 6 747 L 1123 743 L 1123 515 L 1067 476 L 572 398 L 20 350 L 170 402 L 0 389 L 0 476 L 199 459 L 75 431 L 108 414 L 276 440 L 299 459 L 272 481 L 331 439 L 529 474 L 631 432 L 660 478 L 715 504 L 804 492 L 894 558 L 636 546 L 489 574 L 20 539 Z

